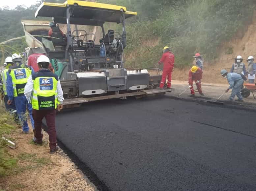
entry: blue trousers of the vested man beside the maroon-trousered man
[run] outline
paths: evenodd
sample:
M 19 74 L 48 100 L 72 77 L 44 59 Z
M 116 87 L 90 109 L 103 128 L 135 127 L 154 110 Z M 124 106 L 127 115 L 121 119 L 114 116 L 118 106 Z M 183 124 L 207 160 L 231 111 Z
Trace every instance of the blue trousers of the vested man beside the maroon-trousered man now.
M 16 103 L 16 110 L 17 110 L 17 113 L 19 116 L 20 124 L 22 125 L 22 130 L 24 132 L 29 131 L 29 127 L 28 127 L 28 123 L 27 123 L 27 116 L 26 116 L 27 108 L 28 108 L 28 113 L 29 113 L 29 117 L 31 120 L 32 128 L 35 129 L 35 127 L 34 127 L 35 122 L 32 117 L 32 105 L 31 105 L 31 103 L 28 103 L 28 100 L 25 97 L 25 95 L 14 97 L 14 101 Z

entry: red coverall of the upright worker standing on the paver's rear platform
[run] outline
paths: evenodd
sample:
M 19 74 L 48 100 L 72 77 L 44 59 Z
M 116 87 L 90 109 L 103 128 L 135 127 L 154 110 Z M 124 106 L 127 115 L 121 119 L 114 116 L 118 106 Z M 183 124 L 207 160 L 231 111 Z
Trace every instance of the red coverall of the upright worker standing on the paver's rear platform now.
M 162 74 L 162 80 L 160 84 L 160 88 L 164 87 L 164 84 L 166 82 L 166 76 L 168 76 L 168 82 L 167 82 L 167 88 L 171 88 L 172 83 L 172 71 L 174 68 L 174 54 L 171 52 L 163 53 L 162 58 L 158 62 L 158 64 L 163 63 L 163 74 Z

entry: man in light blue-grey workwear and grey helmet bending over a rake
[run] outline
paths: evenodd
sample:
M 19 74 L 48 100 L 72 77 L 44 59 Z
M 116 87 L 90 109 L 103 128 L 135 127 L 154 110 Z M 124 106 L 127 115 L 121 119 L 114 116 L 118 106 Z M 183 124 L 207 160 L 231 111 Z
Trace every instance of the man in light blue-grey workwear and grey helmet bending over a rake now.
M 226 70 L 221 70 L 220 74 L 222 77 L 227 78 L 229 83 L 229 88 L 226 90 L 226 92 L 229 92 L 230 89 L 232 89 L 232 93 L 229 97 L 231 101 L 234 100 L 235 96 L 238 97 L 236 101 L 243 101 L 243 97 L 240 92 L 240 88 L 243 84 L 243 79 L 240 74 L 237 73 L 228 73 Z

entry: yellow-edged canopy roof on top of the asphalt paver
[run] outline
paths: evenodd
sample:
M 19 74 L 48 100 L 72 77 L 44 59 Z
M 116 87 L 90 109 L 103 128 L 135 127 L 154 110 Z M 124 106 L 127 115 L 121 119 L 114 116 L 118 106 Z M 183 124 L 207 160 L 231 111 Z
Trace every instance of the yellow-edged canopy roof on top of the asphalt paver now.
M 89 1 L 67 0 L 65 3 L 42 3 L 35 17 L 54 17 L 56 23 L 66 23 L 66 10 L 71 6 L 71 24 L 99 25 L 104 22 L 120 23 L 121 10 L 125 18 L 137 15 L 126 7 Z

